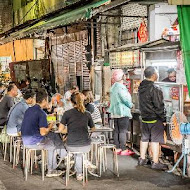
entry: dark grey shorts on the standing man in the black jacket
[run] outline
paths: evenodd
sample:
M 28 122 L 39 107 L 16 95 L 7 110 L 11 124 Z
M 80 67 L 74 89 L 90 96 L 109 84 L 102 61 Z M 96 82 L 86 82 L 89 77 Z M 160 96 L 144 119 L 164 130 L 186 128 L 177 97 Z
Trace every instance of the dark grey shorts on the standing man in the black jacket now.
M 156 123 L 142 123 L 141 129 L 142 142 L 159 142 L 164 144 L 164 125 L 157 120 Z

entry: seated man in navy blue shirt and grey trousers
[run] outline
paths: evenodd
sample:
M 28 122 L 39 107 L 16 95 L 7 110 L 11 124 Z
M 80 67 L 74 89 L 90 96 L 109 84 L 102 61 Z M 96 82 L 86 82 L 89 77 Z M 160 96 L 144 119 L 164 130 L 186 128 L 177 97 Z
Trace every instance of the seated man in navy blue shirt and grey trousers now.
M 46 149 L 48 150 L 48 173 L 47 177 L 59 176 L 61 171 L 56 170 L 56 154 L 59 151 L 59 156 L 64 158 L 66 150 L 64 147 L 57 148 L 55 143 L 47 137 L 54 123 L 47 123 L 46 113 L 42 110 L 47 108 L 48 94 L 44 89 L 36 93 L 36 105 L 26 110 L 22 127 L 21 135 L 23 143 L 27 148 Z

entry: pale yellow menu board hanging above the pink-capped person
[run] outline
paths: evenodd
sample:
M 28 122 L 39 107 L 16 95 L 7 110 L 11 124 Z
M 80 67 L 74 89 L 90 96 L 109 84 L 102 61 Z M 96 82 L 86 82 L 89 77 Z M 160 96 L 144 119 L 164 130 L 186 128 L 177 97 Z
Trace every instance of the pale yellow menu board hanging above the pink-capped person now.
M 140 54 L 139 50 L 111 52 L 110 53 L 111 66 L 139 66 Z

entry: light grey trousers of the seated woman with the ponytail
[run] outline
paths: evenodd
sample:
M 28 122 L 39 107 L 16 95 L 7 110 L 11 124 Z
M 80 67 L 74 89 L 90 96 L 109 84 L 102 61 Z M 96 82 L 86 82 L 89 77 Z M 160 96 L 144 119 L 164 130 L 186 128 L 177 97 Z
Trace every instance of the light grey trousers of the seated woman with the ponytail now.
M 88 153 L 90 151 L 91 145 L 81 146 L 81 147 L 71 147 L 67 146 L 67 150 L 70 152 L 83 152 Z M 78 174 L 82 174 L 82 154 L 75 155 L 75 170 Z

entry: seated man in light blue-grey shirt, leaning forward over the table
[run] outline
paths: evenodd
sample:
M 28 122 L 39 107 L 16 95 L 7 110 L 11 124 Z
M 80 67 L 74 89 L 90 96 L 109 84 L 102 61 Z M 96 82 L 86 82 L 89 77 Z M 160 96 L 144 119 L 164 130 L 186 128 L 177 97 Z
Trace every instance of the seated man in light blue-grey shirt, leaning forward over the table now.
M 24 114 L 29 108 L 29 105 L 32 105 L 34 103 L 35 93 L 31 90 L 27 90 L 23 94 L 23 99 L 14 105 L 9 112 L 7 122 L 8 135 L 18 135 L 20 133 Z

